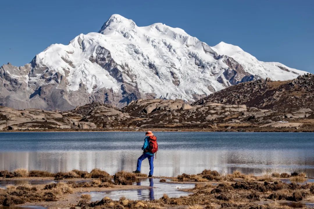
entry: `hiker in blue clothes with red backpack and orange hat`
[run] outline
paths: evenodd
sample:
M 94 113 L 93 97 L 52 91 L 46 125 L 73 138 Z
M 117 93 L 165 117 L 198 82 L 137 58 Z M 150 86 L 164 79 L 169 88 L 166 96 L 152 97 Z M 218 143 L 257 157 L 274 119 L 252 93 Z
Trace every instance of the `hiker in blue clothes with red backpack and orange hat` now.
M 143 159 L 148 158 L 149 162 L 149 175 L 148 177 L 153 177 L 154 173 L 154 154 L 158 151 L 157 137 L 154 136 L 154 133 L 147 131 L 146 137 L 144 139 L 144 145 L 142 147 L 143 154 L 138 158 L 137 168 L 134 173 L 141 173 L 141 165 Z

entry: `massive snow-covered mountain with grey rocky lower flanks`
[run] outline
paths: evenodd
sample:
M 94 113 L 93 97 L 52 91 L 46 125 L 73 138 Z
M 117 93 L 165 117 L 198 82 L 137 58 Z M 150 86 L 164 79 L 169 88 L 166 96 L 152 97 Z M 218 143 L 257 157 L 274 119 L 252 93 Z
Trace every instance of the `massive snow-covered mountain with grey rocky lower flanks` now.
M 210 47 L 182 29 L 138 27 L 115 14 L 98 33 L 52 44 L 24 66 L 3 65 L 0 103 L 69 110 L 92 101 L 118 107 L 139 98 L 195 101 L 239 82 L 304 73 L 258 61 L 238 46 Z

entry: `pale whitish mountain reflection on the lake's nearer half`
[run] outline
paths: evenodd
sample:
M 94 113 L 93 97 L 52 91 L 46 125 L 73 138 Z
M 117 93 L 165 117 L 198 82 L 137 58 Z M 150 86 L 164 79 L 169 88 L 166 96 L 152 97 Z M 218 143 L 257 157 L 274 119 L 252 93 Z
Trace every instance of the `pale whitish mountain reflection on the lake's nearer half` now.
M 2 152 L 0 170 L 26 168 L 58 172 L 73 169 L 90 171 L 93 168 L 100 168 L 113 175 L 119 170 L 134 170 L 140 154 L 138 150 Z M 291 158 L 299 159 L 304 165 Z M 154 160 L 154 168 L 155 176 L 195 174 L 204 169 L 212 169 L 225 174 L 240 170 L 255 175 L 273 171 L 290 173 L 293 170 L 302 170 L 307 176 L 314 177 L 314 163 L 307 159 L 301 160 L 299 153 L 294 151 L 290 151 L 289 156 L 280 151 L 269 152 L 264 156 L 263 151 L 159 151 L 158 158 Z M 149 173 L 147 160 L 142 163 L 142 172 Z

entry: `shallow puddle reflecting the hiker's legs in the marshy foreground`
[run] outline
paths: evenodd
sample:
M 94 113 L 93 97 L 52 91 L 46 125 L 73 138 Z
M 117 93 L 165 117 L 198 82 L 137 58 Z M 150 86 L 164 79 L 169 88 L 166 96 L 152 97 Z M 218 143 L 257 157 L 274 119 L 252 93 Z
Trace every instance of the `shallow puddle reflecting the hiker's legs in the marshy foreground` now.
M 139 179 L 133 185 L 150 186 L 149 189 L 134 189 L 134 190 L 118 190 L 118 191 L 104 191 L 104 192 L 89 192 L 91 201 L 101 200 L 105 196 L 112 200 L 119 200 L 120 197 L 125 196 L 131 200 L 156 200 L 167 194 L 169 197 L 180 197 L 192 194 L 191 192 L 180 191 L 180 189 L 192 189 L 195 184 L 178 184 L 160 182 L 160 179 Z

